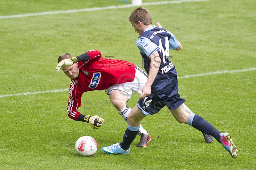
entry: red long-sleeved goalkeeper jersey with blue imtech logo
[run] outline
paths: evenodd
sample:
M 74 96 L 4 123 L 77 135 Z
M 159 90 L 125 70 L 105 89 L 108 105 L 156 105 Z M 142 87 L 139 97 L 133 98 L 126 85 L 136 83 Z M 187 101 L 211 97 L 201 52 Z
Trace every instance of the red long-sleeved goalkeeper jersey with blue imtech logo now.
M 77 120 L 80 112 L 81 97 L 84 92 L 105 90 L 115 84 L 122 84 L 134 80 L 134 64 L 128 61 L 101 57 L 98 50 L 87 52 L 89 61 L 78 63 L 79 76 L 71 79 L 69 87 L 68 116 Z

